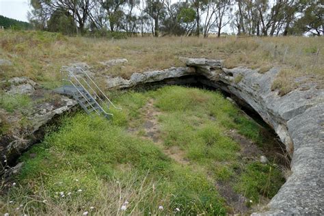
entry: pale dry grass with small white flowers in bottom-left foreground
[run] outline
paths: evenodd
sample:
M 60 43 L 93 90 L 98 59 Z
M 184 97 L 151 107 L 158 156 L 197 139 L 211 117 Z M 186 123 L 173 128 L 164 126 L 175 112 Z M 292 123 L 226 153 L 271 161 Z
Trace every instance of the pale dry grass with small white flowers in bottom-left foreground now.
M 123 168 L 126 168 L 123 172 L 128 173 L 123 180 L 97 179 L 100 192 L 95 198 L 87 198 L 76 191 L 69 195 L 65 191 L 65 197 L 62 198 L 59 191 L 53 195 L 44 185 L 26 196 L 22 194 L 34 190 L 33 183 L 29 183 L 27 187 L 16 185 L 8 189 L 7 200 L 0 199 L 0 212 L 9 215 L 83 215 L 85 212 L 87 215 L 146 215 L 148 212 L 153 215 L 170 214 L 159 210 L 159 205 L 164 208 L 170 205 L 170 196 L 161 197 L 161 193 L 157 193 L 159 181 L 152 181 L 148 174 L 133 172 L 130 167 Z M 126 211 L 122 206 L 126 206 Z

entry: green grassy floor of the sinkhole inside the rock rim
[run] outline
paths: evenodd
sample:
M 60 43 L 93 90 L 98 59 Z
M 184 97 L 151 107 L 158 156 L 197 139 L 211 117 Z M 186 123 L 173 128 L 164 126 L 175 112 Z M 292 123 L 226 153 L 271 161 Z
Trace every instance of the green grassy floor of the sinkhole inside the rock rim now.
M 262 128 L 217 92 L 172 86 L 113 98 L 123 109 L 112 120 L 66 116 L 23 154 L 1 188 L 1 213 L 248 213 L 284 183 L 273 157 L 259 162 L 271 144 Z M 243 207 L 228 194 L 244 196 Z

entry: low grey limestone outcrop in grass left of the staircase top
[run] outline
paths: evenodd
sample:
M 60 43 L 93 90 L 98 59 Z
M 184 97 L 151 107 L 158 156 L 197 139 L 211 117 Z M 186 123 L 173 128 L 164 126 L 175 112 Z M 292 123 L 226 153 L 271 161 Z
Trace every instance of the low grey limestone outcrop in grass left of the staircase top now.
M 14 77 L 1 83 L 9 86 L 5 91 L 7 94 L 32 94 L 36 87 L 36 83 L 27 77 Z

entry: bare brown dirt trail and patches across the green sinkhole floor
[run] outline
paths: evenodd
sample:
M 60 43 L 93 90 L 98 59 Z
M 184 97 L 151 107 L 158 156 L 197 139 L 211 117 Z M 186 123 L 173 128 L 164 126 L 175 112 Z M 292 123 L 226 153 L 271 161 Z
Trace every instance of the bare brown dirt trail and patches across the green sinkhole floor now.
M 190 165 L 193 170 L 199 169 L 204 170 L 204 167 L 200 167 L 200 165 L 190 163 L 188 159 L 185 157 L 185 151 L 181 150 L 178 146 L 170 146 L 167 147 L 163 145 L 163 135 L 161 134 L 161 124 L 159 124 L 159 116 L 163 113 L 154 107 L 154 99 L 148 100 L 148 103 L 141 108 L 141 113 L 144 116 L 144 135 L 145 139 L 150 139 L 157 147 L 159 147 L 164 154 L 168 157 L 174 159 L 180 165 Z M 129 129 L 131 133 L 137 133 L 138 129 Z M 253 159 L 256 160 L 260 155 L 262 155 L 262 151 L 253 143 L 253 141 L 247 139 L 243 135 L 239 135 L 239 133 L 235 130 L 230 130 L 226 134 L 238 144 L 241 145 L 241 157 L 242 159 Z M 206 172 L 206 177 L 215 183 L 215 187 L 221 197 L 226 200 L 226 204 L 229 207 L 230 213 L 233 214 L 247 214 L 251 211 L 252 208 L 247 207 L 246 203 L 249 202 L 247 198 L 243 195 L 236 193 L 234 189 L 232 189 L 232 183 L 230 181 L 218 181 L 215 180 L 211 174 Z

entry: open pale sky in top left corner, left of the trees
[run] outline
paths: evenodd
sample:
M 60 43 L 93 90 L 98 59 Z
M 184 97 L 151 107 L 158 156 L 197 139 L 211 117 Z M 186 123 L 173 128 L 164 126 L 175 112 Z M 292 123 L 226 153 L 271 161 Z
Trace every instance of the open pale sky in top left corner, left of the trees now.
M 28 21 L 29 0 L 0 0 L 0 15 L 18 21 Z

